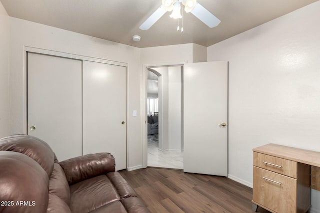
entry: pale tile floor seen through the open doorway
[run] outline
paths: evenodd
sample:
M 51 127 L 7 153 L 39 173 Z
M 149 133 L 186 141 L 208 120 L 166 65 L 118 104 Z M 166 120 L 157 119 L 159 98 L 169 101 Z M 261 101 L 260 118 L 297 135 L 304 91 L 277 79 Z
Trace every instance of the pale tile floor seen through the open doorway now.
M 148 135 L 148 166 L 183 169 L 183 151 L 160 151 L 158 135 Z

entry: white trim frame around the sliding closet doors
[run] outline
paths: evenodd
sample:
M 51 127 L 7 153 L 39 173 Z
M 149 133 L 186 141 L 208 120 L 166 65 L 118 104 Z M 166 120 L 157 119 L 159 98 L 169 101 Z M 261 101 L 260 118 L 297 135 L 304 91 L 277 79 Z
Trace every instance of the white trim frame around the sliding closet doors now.
M 105 63 L 110 65 L 116 65 L 116 66 L 123 66 L 125 67 L 125 147 L 126 147 L 126 168 L 128 168 L 129 162 L 128 162 L 128 134 L 127 134 L 127 118 L 129 117 L 128 112 L 128 64 L 125 62 L 119 62 L 119 61 L 112 61 L 107 60 L 104 58 L 96 58 L 96 57 L 90 57 L 90 56 L 84 56 L 84 55 L 77 55 L 72 53 L 66 53 L 66 52 L 59 52 L 54 50 L 48 50 L 48 49 L 41 49 L 31 46 L 23 46 L 23 133 L 27 134 L 27 52 L 33 52 L 38 54 L 44 54 L 44 55 L 52 55 L 52 56 L 58 56 L 63 58 L 70 58 L 70 59 L 78 59 L 78 60 L 84 60 L 84 61 L 92 61 L 92 62 L 98 62 L 98 63 Z M 82 137 L 83 140 L 83 137 Z M 82 141 L 83 143 L 83 141 Z M 82 150 L 83 155 L 83 150 Z

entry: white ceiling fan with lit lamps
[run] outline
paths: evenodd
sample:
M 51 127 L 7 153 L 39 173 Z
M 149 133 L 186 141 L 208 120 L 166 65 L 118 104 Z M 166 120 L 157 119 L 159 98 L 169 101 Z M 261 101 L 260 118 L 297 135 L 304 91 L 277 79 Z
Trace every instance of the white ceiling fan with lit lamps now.
M 220 23 L 220 20 L 211 12 L 204 8 L 196 0 L 162 0 L 162 4 L 157 8 L 140 26 L 142 30 L 149 29 L 165 13 L 172 11 L 170 17 L 181 18 L 180 10 L 182 5 L 185 12 L 191 12 L 208 27 L 212 28 Z

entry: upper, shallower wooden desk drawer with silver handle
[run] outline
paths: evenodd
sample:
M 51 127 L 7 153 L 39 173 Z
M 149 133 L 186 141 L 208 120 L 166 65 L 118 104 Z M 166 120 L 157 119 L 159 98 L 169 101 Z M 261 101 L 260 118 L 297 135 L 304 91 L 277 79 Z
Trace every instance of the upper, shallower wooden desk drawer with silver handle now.
M 297 178 L 297 162 L 253 152 L 253 166 Z

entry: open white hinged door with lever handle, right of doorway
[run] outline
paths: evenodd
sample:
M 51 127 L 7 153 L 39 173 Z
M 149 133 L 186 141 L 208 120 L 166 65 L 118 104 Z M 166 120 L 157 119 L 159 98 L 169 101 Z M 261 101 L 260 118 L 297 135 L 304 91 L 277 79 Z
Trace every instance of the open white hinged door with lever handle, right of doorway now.
M 227 176 L 227 66 L 184 64 L 184 172 Z

